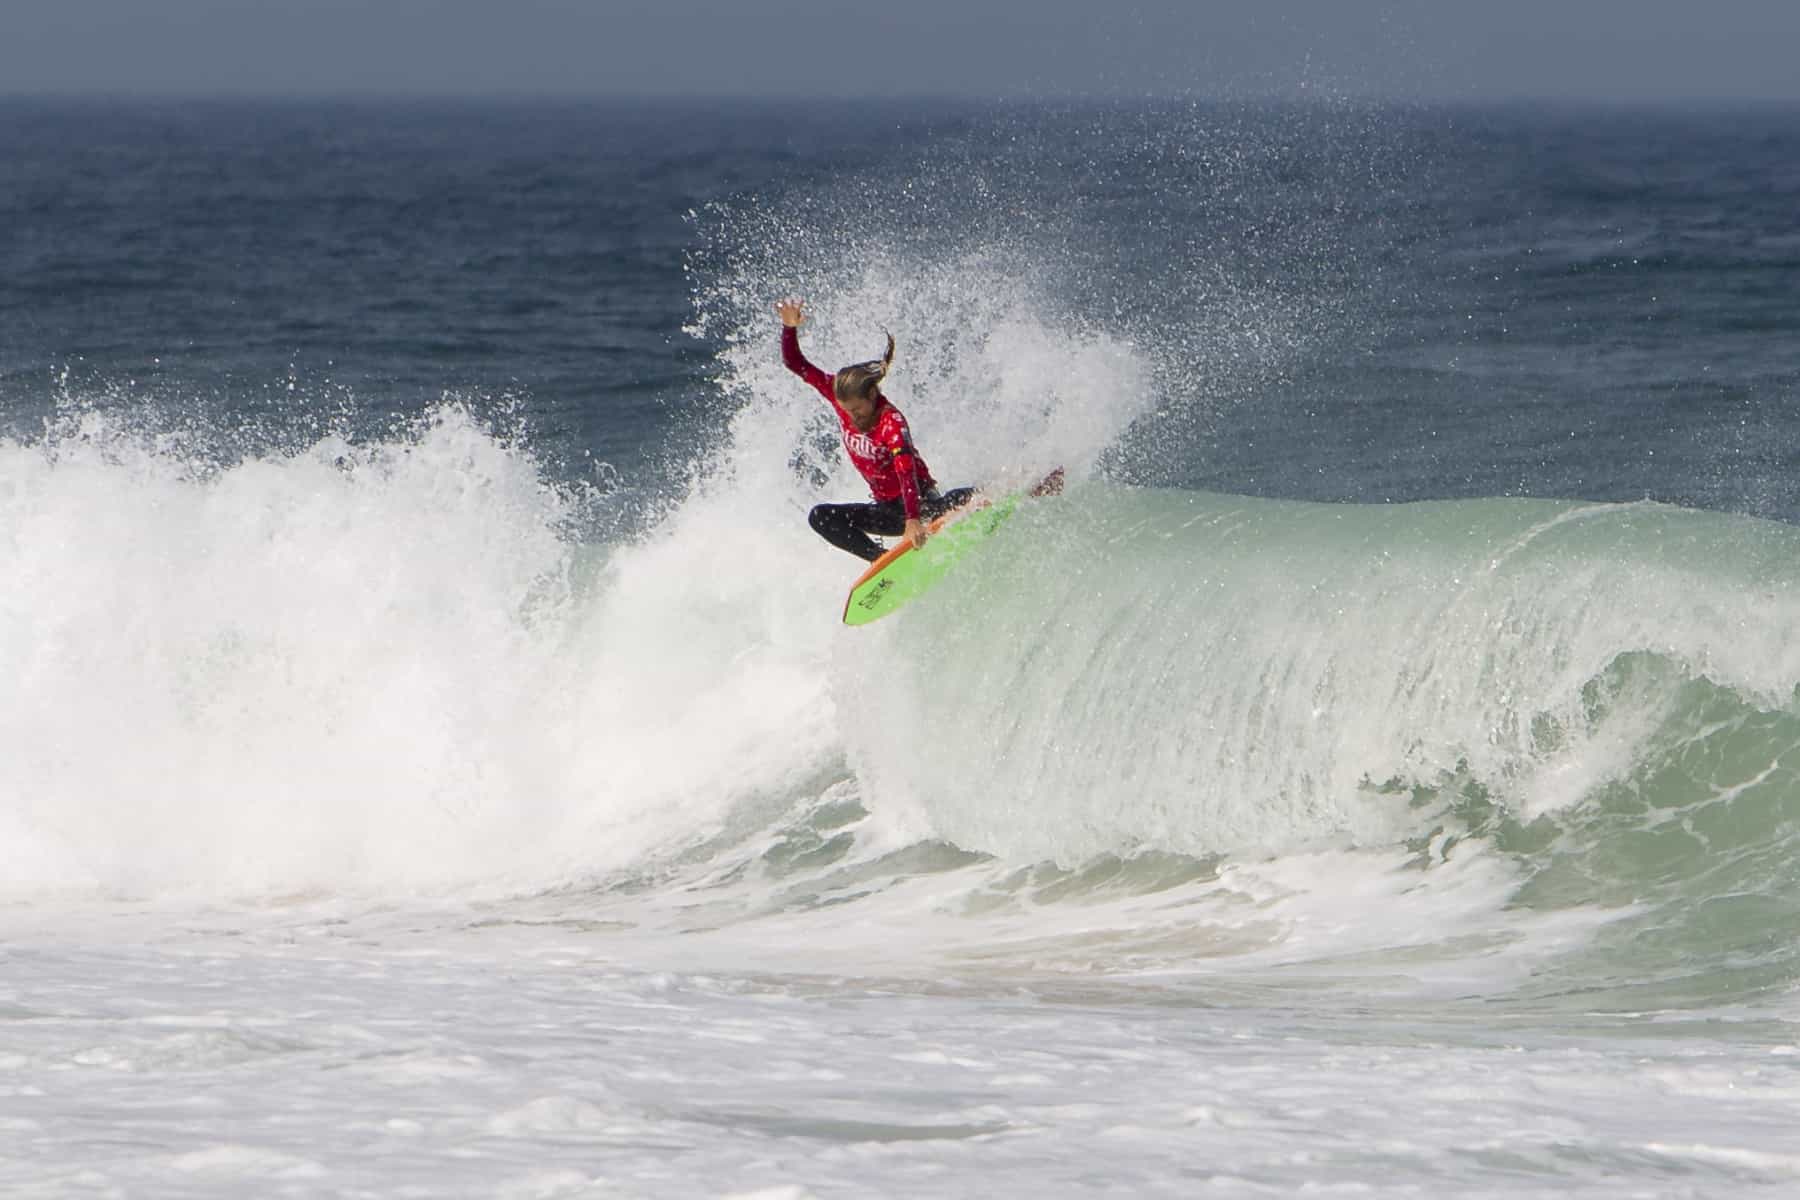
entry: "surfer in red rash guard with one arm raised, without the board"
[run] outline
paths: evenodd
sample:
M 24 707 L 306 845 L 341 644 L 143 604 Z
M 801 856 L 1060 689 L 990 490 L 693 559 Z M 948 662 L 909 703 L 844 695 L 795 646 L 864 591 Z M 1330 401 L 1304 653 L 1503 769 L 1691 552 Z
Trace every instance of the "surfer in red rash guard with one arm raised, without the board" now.
M 844 452 L 869 484 L 871 504 L 819 504 L 806 524 L 832 545 L 875 561 L 882 545 L 869 534 L 904 536 L 913 549 L 925 545 L 925 522 L 968 504 L 974 488 L 940 493 L 925 459 L 913 448 L 905 417 L 882 396 L 882 380 L 895 362 L 895 338 L 887 353 L 835 374 L 806 362 L 799 349 L 799 326 L 806 311 L 797 299 L 776 304 L 781 317 L 781 362 L 824 396 L 844 426 Z

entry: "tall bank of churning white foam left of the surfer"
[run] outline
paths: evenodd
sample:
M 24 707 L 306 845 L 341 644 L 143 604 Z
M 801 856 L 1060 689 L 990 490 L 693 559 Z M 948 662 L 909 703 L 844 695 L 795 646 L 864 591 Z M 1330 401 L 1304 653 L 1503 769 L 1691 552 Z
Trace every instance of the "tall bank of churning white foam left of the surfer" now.
M 760 628 L 794 606 L 740 615 L 704 504 L 596 588 L 567 500 L 461 410 L 216 471 L 103 434 L 0 446 L 14 894 L 545 883 L 817 747 L 794 617 Z

